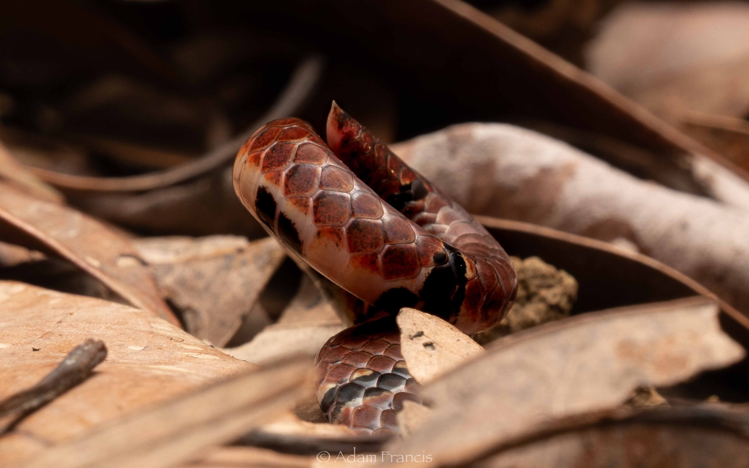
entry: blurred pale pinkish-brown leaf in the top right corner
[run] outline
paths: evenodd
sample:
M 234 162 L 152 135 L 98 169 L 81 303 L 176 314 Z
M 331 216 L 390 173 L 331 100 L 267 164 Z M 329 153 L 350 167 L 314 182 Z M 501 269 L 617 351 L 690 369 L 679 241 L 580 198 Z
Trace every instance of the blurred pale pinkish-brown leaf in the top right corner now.
M 586 52 L 614 88 L 679 121 L 686 111 L 749 113 L 749 6 L 738 1 L 616 8 Z

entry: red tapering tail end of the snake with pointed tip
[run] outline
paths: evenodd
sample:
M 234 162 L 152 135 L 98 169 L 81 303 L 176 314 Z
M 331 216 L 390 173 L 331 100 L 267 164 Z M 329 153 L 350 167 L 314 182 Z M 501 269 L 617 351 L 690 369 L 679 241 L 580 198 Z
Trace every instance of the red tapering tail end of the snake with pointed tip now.
M 485 228 L 335 103 L 328 116 L 327 139 L 336 156 L 380 198 L 460 252 L 466 265 L 466 282 L 455 291 L 463 299 L 460 312 L 450 321 L 464 331 L 478 331 L 501 320 L 515 300 L 517 279 L 509 257 Z M 401 229 L 386 225 L 386 242 L 411 243 L 413 231 L 409 229 L 406 234 Z M 385 266 L 386 274 L 412 272 L 410 253 L 390 255 L 405 264 Z M 419 258 L 423 261 L 424 255 Z M 425 311 L 435 312 L 428 310 L 428 304 Z

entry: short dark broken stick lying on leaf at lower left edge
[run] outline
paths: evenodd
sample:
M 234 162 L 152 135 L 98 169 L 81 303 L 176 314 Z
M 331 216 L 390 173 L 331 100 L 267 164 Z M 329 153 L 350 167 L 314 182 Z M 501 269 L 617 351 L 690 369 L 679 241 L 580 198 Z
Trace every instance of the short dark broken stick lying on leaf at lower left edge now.
M 88 338 L 39 383 L 0 401 L 0 436 L 25 416 L 81 383 L 105 358 L 104 342 Z

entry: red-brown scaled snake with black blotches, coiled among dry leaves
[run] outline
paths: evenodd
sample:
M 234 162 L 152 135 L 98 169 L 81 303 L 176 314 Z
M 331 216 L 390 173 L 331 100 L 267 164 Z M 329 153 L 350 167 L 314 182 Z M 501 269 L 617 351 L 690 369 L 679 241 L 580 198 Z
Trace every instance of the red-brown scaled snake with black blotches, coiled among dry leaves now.
M 389 436 L 404 403 L 420 402 L 401 355 L 399 310 L 480 332 L 505 316 L 518 280 L 470 213 L 335 102 L 326 132 L 327 142 L 299 118 L 260 127 L 237 153 L 234 190 L 354 323 L 315 357 L 321 410 Z

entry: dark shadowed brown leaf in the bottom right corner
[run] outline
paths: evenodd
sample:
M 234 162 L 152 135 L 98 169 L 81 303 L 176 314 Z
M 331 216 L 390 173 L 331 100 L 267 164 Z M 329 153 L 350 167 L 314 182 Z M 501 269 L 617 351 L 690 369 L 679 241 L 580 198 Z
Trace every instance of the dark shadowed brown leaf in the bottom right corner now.
M 558 428 L 477 461 L 473 468 L 745 467 L 747 413 L 720 405 L 672 408 Z

